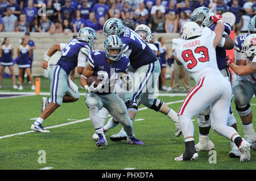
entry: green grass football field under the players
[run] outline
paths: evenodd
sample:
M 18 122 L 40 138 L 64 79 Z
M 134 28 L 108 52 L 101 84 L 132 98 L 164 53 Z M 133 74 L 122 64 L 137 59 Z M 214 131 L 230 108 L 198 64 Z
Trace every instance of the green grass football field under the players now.
M 42 77 L 41 77 L 42 78 Z M 168 80 L 170 81 L 170 80 Z M 79 79 L 75 82 L 79 85 Z M 18 92 L 8 86 L 10 79 L 3 79 L 1 92 Z M 49 83 L 42 78 L 41 92 L 49 92 Z M 32 92 L 24 83 L 24 92 Z M 81 93 L 85 93 L 80 89 Z M 162 92 L 166 93 L 166 92 Z M 106 132 L 108 146 L 98 148 L 93 140 L 94 128 L 89 120 L 89 111 L 84 95 L 75 103 L 65 103 L 43 123 L 50 132 L 30 131 L 36 117 L 40 116 L 41 98 L 45 95 L 21 96 L 0 99 L 0 169 L 86 169 L 86 170 L 173 170 L 173 169 L 243 169 L 255 170 L 256 151 L 251 150 L 251 160 L 240 162 L 230 158 L 230 141 L 210 130 L 210 140 L 215 145 L 216 163 L 212 153 L 199 152 L 195 161 L 176 162 L 175 157 L 184 151 L 183 136 L 175 137 L 174 123 L 160 112 L 139 107 L 134 121 L 134 133 L 144 145 L 129 145 L 126 141 L 112 142 L 109 137 L 119 132 L 121 125 Z M 176 112 L 185 96 L 166 94 L 159 99 L 168 103 Z M 200 104 L 200 100 L 199 100 Z M 243 136 L 242 123 L 232 103 L 237 119 L 238 133 Z M 251 100 L 251 109 L 256 115 L 256 99 Z M 195 142 L 199 140 L 196 117 Z M 255 120 L 255 118 L 254 118 Z M 254 123 L 254 128 L 256 128 Z M 45 156 L 45 157 L 43 157 Z M 43 159 L 45 158 L 45 159 Z

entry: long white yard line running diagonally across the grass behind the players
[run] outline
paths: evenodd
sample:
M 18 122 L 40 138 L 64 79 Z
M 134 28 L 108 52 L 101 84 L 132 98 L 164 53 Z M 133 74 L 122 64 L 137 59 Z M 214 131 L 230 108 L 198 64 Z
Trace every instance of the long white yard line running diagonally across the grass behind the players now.
M 183 100 L 177 100 L 177 101 L 174 101 L 174 102 L 168 102 L 166 104 L 169 105 L 169 104 L 175 104 L 175 103 L 181 103 L 181 102 L 183 102 Z M 139 108 L 138 111 L 147 110 L 147 109 L 148 109 L 147 107 L 143 107 L 143 108 Z M 110 116 L 110 115 L 108 115 L 108 116 Z M 35 118 L 31 118 L 31 119 L 34 120 Z M 72 122 L 69 122 L 69 123 L 54 125 L 54 126 L 51 126 L 51 127 L 46 127 L 45 129 L 63 127 L 63 126 L 66 126 L 66 125 L 81 123 L 81 122 L 89 121 L 89 120 L 90 120 L 90 118 L 88 117 L 86 119 L 80 119 L 80 120 L 72 121 Z M 9 137 L 13 137 L 13 136 L 17 136 L 17 135 L 22 135 L 22 134 L 27 134 L 27 133 L 33 133 L 33 132 L 35 132 L 35 131 L 27 131 L 27 132 L 20 132 L 20 133 L 15 133 L 15 134 L 9 134 L 9 135 L 6 135 L 6 136 L 0 136 L 0 140 L 3 139 L 3 138 L 9 138 Z

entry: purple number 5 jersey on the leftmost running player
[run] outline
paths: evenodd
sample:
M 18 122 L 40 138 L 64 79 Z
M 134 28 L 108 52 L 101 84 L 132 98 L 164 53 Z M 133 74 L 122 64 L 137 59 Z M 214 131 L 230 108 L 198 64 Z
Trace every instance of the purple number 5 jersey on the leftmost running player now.
M 72 39 L 62 50 L 62 56 L 56 65 L 59 65 L 61 69 L 65 70 L 67 75 L 76 68 L 77 66 L 77 57 L 79 55 L 80 49 L 83 47 L 90 46 L 84 41 L 78 41 L 77 39 Z M 90 48 L 90 50 L 92 50 Z

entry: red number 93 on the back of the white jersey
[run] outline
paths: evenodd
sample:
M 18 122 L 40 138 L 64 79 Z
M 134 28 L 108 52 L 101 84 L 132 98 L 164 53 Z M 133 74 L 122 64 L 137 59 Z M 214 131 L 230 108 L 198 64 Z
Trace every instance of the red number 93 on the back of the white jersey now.
M 185 62 L 191 61 L 187 65 L 188 69 L 193 69 L 197 65 L 197 60 L 200 62 L 209 61 L 208 49 L 206 47 L 197 47 L 195 49 L 195 53 L 200 53 L 202 55 L 202 57 L 196 59 L 192 50 L 190 50 L 190 49 L 184 50 L 181 54 L 181 56 Z

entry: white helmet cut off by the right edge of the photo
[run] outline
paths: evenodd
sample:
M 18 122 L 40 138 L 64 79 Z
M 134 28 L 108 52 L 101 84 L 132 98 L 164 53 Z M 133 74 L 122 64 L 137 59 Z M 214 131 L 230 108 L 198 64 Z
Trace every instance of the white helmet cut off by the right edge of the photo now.
M 246 53 L 247 57 L 253 57 L 256 54 L 256 33 L 250 34 L 242 43 L 242 53 Z

